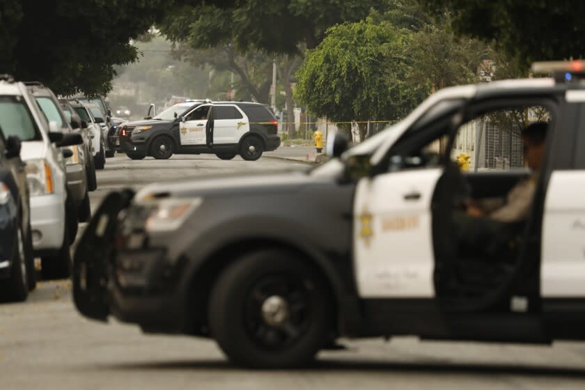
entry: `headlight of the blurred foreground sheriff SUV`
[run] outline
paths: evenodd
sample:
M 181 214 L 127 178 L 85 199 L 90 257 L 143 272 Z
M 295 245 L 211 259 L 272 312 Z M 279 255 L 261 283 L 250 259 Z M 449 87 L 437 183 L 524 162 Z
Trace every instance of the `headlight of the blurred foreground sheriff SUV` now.
M 146 231 L 176 231 L 201 203 L 203 203 L 202 198 L 159 201 L 146 219 Z

